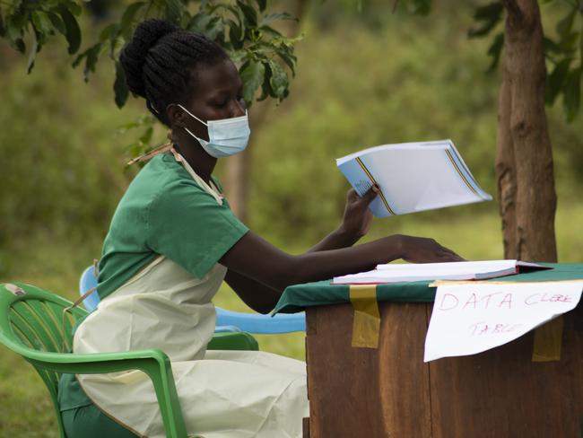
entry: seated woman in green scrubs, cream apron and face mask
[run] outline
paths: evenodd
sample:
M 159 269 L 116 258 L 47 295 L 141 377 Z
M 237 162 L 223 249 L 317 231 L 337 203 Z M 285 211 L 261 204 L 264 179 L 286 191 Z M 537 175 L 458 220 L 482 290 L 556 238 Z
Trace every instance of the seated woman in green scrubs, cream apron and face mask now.
M 309 252 L 274 248 L 239 222 L 213 180 L 217 158 L 245 149 L 250 133 L 239 73 L 222 48 L 150 20 L 137 27 L 121 63 L 129 89 L 171 128 L 172 148 L 148 162 L 117 206 L 100 260 L 102 301 L 76 330 L 74 352 L 161 348 L 190 435 L 299 437 L 309 415 L 305 364 L 206 351 L 222 280 L 267 312 L 287 285 L 396 258 L 459 258 L 431 239 L 401 235 L 352 247 L 369 227 L 378 188 L 364 197 L 349 192 L 343 224 Z M 69 436 L 164 436 L 142 372 L 68 376 L 59 396 Z

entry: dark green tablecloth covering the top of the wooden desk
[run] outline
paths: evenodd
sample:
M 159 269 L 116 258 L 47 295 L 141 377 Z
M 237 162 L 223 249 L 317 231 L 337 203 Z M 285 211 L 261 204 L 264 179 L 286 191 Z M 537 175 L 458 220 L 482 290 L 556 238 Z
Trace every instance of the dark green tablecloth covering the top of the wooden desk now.
M 484 281 L 542 282 L 583 279 L 583 263 L 541 263 L 541 265 L 553 267 L 553 269 Z M 431 283 L 431 281 L 417 281 L 377 285 L 377 301 L 433 302 L 436 288 L 430 287 Z M 350 285 L 331 285 L 330 280 L 292 285 L 283 291 L 274 313 L 292 313 L 303 311 L 304 308 L 310 306 L 350 302 L 349 290 Z

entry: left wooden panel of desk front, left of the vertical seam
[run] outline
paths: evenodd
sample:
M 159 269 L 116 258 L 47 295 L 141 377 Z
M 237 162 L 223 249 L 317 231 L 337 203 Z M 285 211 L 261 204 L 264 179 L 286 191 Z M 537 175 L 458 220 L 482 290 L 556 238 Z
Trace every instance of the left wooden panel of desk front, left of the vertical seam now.
M 308 309 L 311 438 L 431 436 L 426 305 L 379 311 L 379 349 L 372 349 L 352 348 L 351 304 Z

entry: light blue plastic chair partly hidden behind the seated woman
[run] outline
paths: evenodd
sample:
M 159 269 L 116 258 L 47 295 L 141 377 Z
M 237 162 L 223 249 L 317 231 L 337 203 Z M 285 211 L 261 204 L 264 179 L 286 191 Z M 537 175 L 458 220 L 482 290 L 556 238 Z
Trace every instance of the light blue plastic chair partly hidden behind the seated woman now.
M 97 286 L 94 268 L 87 267 L 79 279 L 79 293 L 83 295 L 92 287 Z M 97 292 L 90 293 L 84 300 L 83 306 L 87 311 L 94 311 L 100 303 Z M 290 315 L 277 314 L 261 315 L 257 313 L 242 313 L 239 311 L 226 311 L 216 307 L 215 333 L 247 331 L 258 335 L 271 335 L 277 333 L 291 333 L 293 331 L 306 331 L 305 313 L 293 313 Z

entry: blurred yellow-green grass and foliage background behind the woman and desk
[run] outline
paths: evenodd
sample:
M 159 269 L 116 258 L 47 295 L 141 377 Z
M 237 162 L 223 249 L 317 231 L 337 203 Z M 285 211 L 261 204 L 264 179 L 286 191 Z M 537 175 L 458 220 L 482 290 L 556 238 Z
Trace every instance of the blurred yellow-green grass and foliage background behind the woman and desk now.
M 488 40 L 467 39 L 471 2 L 437 2 L 429 17 L 391 13 L 386 2 L 313 2 L 301 22 L 291 96 L 269 102 L 253 124 L 248 225 L 291 252 L 307 250 L 340 222 L 348 184 L 335 158 L 385 143 L 451 138 L 483 188 L 496 195 L 498 73 L 485 74 Z M 545 11 L 545 17 L 552 11 Z M 550 19 L 549 19 L 550 20 Z M 95 24 L 84 22 L 87 35 Z M 113 66 L 83 83 L 65 42 L 43 48 L 32 74 L 0 41 L 0 282 L 39 285 L 68 298 L 100 257 L 109 219 L 135 169 L 121 128 L 144 102 L 117 109 Z M 583 117 L 549 109 L 559 198 L 560 261 L 581 261 Z M 158 139 L 165 132 L 159 129 Z M 224 176 L 224 162 L 218 174 Z M 496 201 L 377 220 L 363 240 L 396 232 L 433 237 L 466 258 L 502 258 Z M 224 286 L 216 303 L 248 311 Z M 303 334 L 259 337 L 267 351 L 303 358 Z M 0 348 L 0 436 L 57 436 L 41 381 Z

